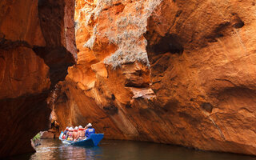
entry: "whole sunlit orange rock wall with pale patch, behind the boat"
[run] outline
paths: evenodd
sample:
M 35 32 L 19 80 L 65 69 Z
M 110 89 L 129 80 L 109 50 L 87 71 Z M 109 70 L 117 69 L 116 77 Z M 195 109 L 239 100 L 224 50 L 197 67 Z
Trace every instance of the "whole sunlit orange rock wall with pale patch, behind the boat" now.
M 256 154 L 254 1 L 76 1 L 62 129 Z

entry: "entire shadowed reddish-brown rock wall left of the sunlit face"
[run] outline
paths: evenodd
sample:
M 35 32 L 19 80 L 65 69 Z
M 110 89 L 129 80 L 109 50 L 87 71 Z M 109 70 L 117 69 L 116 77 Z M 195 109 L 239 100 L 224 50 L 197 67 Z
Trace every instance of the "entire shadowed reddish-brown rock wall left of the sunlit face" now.
M 74 64 L 74 2 L 3 0 L 0 10 L 0 157 L 6 157 L 33 151 L 30 138 L 49 127 L 46 98 Z

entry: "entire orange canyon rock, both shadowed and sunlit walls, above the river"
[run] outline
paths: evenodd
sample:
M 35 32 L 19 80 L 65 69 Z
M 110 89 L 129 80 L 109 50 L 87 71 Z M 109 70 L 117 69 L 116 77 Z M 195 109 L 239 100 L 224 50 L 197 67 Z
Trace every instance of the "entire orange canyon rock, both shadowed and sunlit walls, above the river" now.
M 54 113 L 108 139 L 256 155 L 254 0 L 2 0 L 0 157 Z M 255 109 L 255 110 L 254 110 Z

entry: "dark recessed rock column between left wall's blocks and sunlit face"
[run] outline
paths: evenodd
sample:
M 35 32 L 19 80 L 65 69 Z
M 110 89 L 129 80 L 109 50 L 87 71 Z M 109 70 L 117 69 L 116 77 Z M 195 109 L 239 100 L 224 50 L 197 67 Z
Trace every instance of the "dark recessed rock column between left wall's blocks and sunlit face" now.
M 75 63 L 74 1 L 40 0 L 38 18 L 46 46 L 35 46 L 33 50 L 50 67 L 52 89 L 58 81 L 64 80 L 67 68 Z

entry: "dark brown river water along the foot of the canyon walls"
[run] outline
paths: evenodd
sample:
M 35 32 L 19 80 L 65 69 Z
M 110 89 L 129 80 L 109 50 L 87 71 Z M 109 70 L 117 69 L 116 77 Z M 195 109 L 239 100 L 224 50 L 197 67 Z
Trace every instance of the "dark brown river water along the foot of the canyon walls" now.
M 187 149 L 150 142 L 103 140 L 98 147 L 79 147 L 62 144 L 58 139 L 42 139 L 34 154 L 10 158 L 30 160 L 256 160 L 256 157 Z

